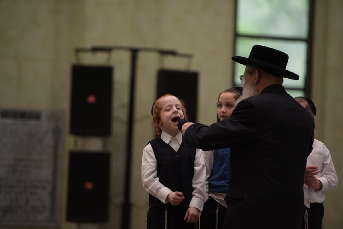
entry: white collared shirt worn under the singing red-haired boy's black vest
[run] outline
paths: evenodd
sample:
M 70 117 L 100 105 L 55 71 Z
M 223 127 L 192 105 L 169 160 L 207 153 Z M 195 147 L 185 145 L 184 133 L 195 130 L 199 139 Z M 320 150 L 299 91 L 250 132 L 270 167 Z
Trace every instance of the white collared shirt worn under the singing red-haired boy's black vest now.
M 175 137 L 162 131 L 161 139 L 169 144 L 175 151 L 177 151 L 182 142 L 181 132 Z M 206 188 L 206 172 L 205 172 L 205 163 L 203 157 L 203 151 L 201 149 L 196 150 L 194 158 L 194 176 L 192 180 L 193 187 L 193 197 L 189 204 L 189 207 L 195 207 L 202 211 L 205 197 L 205 188 Z M 168 203 L 167 196 L 169 193 L 173 192 L 168 187 L 164 186 L 159 182 L 157 177 L 157 161 L 155 158 L 155 153 L 150 144 L 148 144 L 143 150 L 142 156 L 142 183 L 143 188 L 149 194 L 158 198 L 163 203 Z

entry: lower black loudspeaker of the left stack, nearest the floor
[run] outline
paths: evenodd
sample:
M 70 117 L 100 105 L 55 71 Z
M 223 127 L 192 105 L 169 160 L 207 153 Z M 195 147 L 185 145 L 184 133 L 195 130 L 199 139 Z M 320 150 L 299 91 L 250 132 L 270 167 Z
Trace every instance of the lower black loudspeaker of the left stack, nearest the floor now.
M 109 152 L 70 152 L 67 221 L 108 221 L 109 171 Z

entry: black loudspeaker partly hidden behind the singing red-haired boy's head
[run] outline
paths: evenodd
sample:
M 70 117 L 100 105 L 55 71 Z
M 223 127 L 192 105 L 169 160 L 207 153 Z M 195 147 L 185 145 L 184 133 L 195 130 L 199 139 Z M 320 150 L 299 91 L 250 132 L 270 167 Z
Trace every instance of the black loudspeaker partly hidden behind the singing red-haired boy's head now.
M 197 121 L 198 72 L 159 70 L 157 98 L 164 94 L 175 95 L 186 107 L 189 121 Z

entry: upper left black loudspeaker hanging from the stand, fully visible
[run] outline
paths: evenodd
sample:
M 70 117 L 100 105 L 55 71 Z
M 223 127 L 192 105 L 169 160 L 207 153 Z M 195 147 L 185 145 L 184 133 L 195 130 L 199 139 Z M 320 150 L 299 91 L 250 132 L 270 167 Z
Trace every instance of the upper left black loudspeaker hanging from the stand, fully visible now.
M 110 135 L 112 73 L 111 66 L 72 66 L 71 134 Z

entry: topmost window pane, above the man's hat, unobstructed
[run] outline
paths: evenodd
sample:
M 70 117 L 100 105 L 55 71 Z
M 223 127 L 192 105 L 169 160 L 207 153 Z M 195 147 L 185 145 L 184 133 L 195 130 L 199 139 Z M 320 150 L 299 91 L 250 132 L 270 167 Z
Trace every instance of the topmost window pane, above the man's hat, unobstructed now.
M 237 33 L 307 38 L 309 0 L 237 0 Z

